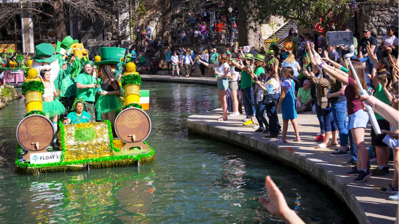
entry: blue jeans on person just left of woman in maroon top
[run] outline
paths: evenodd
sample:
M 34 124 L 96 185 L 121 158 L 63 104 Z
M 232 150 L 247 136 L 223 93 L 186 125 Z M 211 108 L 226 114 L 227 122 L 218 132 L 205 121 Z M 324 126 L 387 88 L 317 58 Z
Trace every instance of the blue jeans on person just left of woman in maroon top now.
M 340 145 L 348 145 L 348 129 L 346 129 L 347 108 L 346 101 L 331 104 L 332 116 L 334 122 L 338 126 L 340 134 Z

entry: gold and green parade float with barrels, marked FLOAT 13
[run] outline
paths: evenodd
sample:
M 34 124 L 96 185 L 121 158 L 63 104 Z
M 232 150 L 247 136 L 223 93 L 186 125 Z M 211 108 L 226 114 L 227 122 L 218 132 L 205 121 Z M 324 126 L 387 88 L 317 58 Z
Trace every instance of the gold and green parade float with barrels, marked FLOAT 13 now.
M 36 79 L 38 71 L 32 68 L 22 86 L 26 116 L 18 124 L 16 133 L 19 143 L 16 173 L 81 171 L 145 165 L 154 161 L 154 150 L 145 142 L 151 132 L 150 117 L 143 110 L 143 107 L 148 110 L 149 90 L 140 90 L 141 77 L 134 63 L 126 65 L 120 62 L 125 49 L 103 47 L 99 52 L 101 61 L 96 65 L 111 65 L 115 68 L 115 76 L 120 75 L 121 66 L 126 66 L 120 79 L 124 108 L 115 119 L 117 138 L 113 137 L 109 120 L 67 125 L 59 122 L 57 138 L 60 149 L 53 149 L 50 145 L 54 127 L 42 111 L 43 83 Z

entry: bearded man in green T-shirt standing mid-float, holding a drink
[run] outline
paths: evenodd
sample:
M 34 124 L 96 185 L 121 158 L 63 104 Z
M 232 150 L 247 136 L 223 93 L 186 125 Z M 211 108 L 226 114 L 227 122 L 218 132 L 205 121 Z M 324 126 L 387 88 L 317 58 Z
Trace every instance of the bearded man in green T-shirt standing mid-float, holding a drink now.
M 93 71 L 94 63 L 89 61 L 89 59 L 85 60 L 86 57 L 82 58 L 82 73 L 78 74 L 75 77 L 75 84 L 76 84 L 76 96 L 77 98 L 82 98 L 85 104 L 86 111 L 90 114 L 92 118 L 96 118 L 95 114 L 95 91 L 96 88 L 96 78 L 93 77 L 97 76 L 95 70 Z

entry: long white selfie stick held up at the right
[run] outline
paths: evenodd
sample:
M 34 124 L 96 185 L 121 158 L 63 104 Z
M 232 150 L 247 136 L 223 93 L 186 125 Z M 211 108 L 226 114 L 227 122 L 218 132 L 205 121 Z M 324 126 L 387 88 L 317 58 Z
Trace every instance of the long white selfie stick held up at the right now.
M 348 59 L 347 60 L 348 64 L 350 66 L 350 69 L 352 70 L 352 74 L 355 77 L 356 83 L 358 84 L 358 87 L 359 87 L 359 95 L 360 96 L 364 95 L 364 94 L 368 95 L 367 91 L 363 89 L 363 86 L 360 83 L 358 74 L 356 74 L 356 71 L 355 71 L 355 69 L 354 69 L 354 67 L 352 65 L 352 62 L 350 61 L 350 59 L 355 54 L 354 46 L 353 45 L 348 45 L 348 46 L 346 46 L 346 48 L 349 49 L 350 53 L 347 53 L 346 55 L 344 55 L 344 58 Z M 371 121 L 371 126 L 373 126 L 374 132 L 376 134 L 378 134 L 378 135 L 381 134 L 381 130 L 379 128 L 377 119 L 375 118 L 375 115 L 374 115 L 374 112 L 373 112 L 373 108 L 370 106 L 370 104 L 367 101 L 363 101 L 363 102 L 366 104 L 366 111 L 367 111 L 367 114 L 369 114 L 369 118 L 370 118 L 370 121 Z

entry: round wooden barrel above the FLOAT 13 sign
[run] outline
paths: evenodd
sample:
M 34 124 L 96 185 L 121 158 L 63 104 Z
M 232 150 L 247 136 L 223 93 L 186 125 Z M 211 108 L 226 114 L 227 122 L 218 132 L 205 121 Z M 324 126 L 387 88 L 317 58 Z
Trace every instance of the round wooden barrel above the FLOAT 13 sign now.
M 27 116 L 17 127 L 18 143 L 29 151 L 46 149 L 51 145 L 53 136 L 53 123 L 39 114 Z M 35 146 L 35 143 L 38 143 L 38 147 Z

